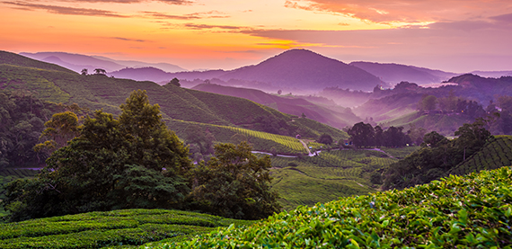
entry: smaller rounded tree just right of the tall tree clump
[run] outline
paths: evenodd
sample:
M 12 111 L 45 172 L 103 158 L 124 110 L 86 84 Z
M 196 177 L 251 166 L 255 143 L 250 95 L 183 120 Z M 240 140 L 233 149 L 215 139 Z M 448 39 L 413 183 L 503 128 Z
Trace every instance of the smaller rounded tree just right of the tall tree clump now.
M 278 193 L 270 191 L 270 158 L 258 158 L 242 142 L 219 144 L 215 157 L 194 170 L 191 198 L 212 214 L 258 219 L 278 212 Z

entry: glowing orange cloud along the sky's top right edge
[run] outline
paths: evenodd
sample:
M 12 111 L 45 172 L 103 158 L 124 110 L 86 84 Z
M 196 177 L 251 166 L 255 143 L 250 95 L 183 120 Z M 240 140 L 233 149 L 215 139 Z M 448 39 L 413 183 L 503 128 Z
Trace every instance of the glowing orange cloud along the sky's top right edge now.
M 438 22 L 512 12 L 509 0 L 287 0 L 285 6 L 369 22 Z

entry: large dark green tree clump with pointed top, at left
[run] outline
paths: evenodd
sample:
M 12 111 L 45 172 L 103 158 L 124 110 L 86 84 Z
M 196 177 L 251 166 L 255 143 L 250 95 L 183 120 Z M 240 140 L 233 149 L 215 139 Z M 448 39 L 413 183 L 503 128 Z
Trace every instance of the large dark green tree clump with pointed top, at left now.
M 132 93 L 121 110 L 119 119 L 103 111 L 86 117 L 37 178 L 8 186 L 3 204 L 13 220 L 182 204 L 190 191 L 188 148 L 145 91 Z

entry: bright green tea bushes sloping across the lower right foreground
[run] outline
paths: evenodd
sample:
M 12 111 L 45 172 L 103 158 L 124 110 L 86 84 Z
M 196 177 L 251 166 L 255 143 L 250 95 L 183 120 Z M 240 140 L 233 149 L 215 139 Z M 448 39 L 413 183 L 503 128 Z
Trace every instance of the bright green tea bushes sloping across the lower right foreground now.
M 512 170 L 299 207 L 160 248 L 512 248 Z

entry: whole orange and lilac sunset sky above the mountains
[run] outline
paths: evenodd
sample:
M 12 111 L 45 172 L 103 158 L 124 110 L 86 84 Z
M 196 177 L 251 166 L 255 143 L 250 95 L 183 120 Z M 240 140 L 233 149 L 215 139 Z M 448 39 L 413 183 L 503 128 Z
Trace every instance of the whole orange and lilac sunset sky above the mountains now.
M 510 0 L 7 0 L 0 49 L 233 69 L 286 49 L 343 62 L 512 70 Z

